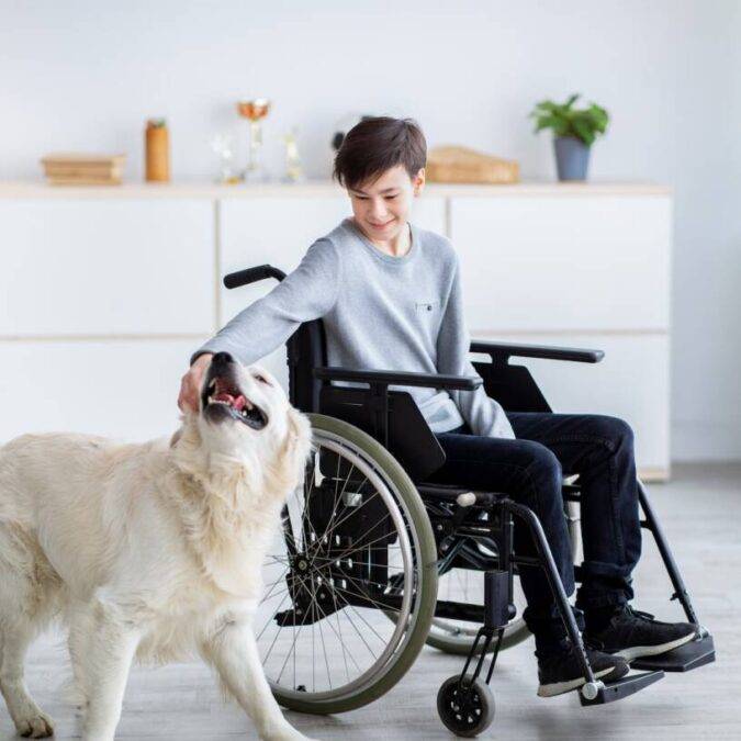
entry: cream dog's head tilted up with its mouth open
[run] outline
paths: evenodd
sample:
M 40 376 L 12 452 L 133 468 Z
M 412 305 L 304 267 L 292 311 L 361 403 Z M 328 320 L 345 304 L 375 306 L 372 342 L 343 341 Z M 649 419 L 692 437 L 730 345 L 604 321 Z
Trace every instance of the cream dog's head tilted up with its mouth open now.
M 291 406 L 274 377 L 259 366 L 246 368 L 228 352 L 214 355 L 203 375 L 199 411 L 188 415 L 184 434 L 189 427 L 189 440 L 182 442 L 190 447 L 198 438 L 209 469 L 216 460 L 226 467 L 239 463 L 254 485 L 259 476 L 262 485 L 269 482 L 277 491 L 303 479 L 311 424 Z M 173 445 L 180 448 L 180 439 L 173 439 Z

